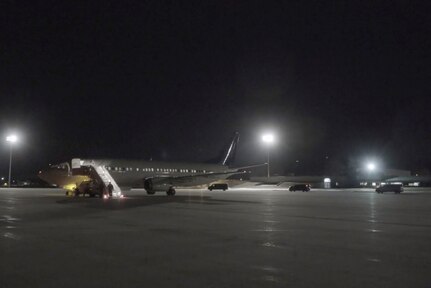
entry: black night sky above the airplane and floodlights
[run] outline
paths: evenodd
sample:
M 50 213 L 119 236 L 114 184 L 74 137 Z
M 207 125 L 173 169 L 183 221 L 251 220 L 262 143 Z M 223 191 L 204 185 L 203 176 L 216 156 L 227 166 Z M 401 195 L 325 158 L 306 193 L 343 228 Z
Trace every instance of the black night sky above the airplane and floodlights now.
M 0 2 L 15 173 L 73 157 L 205 161 L 235 131 L 236 164 L 262 163 L 265 129 L 274 173 L 431 168 L 429 1 L 66 2 Z M 2 174 L 8 157 L 4 143 Z

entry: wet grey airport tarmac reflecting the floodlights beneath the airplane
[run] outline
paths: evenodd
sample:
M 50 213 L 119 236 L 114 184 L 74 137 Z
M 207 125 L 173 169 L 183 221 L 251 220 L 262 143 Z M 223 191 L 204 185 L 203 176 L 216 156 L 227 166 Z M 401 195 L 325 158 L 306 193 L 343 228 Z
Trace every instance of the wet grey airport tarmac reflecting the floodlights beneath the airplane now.
M 431 287 L 431 189 L 0 189 L 0 287 Z

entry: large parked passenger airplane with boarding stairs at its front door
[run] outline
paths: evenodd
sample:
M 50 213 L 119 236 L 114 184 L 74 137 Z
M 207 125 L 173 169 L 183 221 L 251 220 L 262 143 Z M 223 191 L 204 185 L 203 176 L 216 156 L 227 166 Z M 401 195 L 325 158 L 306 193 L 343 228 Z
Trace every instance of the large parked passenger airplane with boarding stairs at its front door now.
M 167 195 L 175 195 L 175 187 L 210 184 L 234 174 L 246 173 L 243 169 L 260 166 L 227 166 L 235 155 L 238 141 L 239 134 L 236 133 L 218 164 L 75 158 L 71 165 L 65 162 L 40 171 L 39 178 L 67 190 L 79 187 L 83 181 L 99 183 L 101 189 L 90 192 L 90 196 L 103 196 L 109 182 L 114 187 L 114 196 L 122 195 L 120 187 L 144 188 L 148 194 L 165 191 Z

